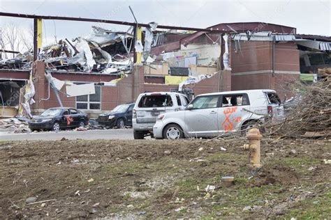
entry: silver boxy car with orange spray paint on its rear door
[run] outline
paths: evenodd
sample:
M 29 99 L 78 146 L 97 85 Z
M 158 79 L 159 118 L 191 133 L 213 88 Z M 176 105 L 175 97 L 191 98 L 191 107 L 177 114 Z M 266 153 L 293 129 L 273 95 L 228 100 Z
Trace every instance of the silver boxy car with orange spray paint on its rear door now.
M 156 139 L 209 137 L 248 129 L 267 115 L 281 118 L 284 107 L 273 90 L 246 90 L 198 95 L 185 111 L 160 114 Z

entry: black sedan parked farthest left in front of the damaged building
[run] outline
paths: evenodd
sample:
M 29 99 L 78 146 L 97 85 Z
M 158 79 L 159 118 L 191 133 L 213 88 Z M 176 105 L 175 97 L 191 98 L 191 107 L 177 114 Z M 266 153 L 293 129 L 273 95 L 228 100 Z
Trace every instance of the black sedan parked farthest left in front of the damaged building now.
M 31 131 L 40 129 L 51 129 L 59 131 L 64 128 L 82 127 L 89 123 L 86 113 L 72 108 L 50 108 L 41 113 L 40 116 L 33 116 L 29 121 Z

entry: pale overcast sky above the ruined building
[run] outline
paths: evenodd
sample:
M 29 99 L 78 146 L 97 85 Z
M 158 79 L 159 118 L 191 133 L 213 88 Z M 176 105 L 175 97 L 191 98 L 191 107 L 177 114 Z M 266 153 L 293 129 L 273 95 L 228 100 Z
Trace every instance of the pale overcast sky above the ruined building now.
M 133 22 L 128 6 L 133 8 L 138 22 L 205 28 L 224 22 L 266 22 L 297 28 L 297 33 L 330 36 L 330 1 L 3 1 L 0 10 L 6 13 L 89 17 Z M 31 19 L 1 17 L 0 26 L 13 23 L 22 30 L 32 25 Z M 91 31 L 90 22 L 47 20 L 43 23 L 43 44 L 57 36 L 74 38 Z M 99 24 L 106 29 L 124 30 L 127 26 Z

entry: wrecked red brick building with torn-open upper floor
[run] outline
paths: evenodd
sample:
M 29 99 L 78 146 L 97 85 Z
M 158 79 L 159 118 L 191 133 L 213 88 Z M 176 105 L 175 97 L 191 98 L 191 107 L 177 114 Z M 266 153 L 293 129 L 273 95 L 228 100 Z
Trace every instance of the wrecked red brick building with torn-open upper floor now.
M 119 37 L 105 45 L 95 42 L 95 38 L 84 39 L 89 47 L 61 42 L 55 45 L 62 49 L 59 56 L 41 58 L 32 68 L 36 102 L 31 104 L 31 112 L 58 107 L 60 100 L 65 107 L 82 109 L 95 117 L 118 104 L 134 102 L 145 91 L 199 95 L 271 88 L 284 97 L 302 74 L 315 79 L 317 68 L 331 65 L 330 37 L 298 35 L 293 27 L 258 22 L 217 24 L 207 29 L 222 33 L 152 31 L 149 56 L 142 64 L 134 65 L 133 43 L 137 44 L 134 35 L 103 30 L 108 36 Z M 142 31 L 140 40 L 145 41 L 145 47 L 147 36 Z M 69 56 L 63 45 L 71 47 L 74 55 Z M 55 51 L 54 47 L 48 49 Z M 84 54 L 84 62 L 80 61 L 84 65 L 78 65 L 79 54 Z M 1 65 L 0 69 L 2 117 L 17 113 L 17 105 L 24 99 L 21 88 L 30 77 L 29 68 L 17 68 L 13 63 Z M 84 70 L 85 67 L 90 68 Z M 84 84 L 94 85 L 91 93 L 78 91 L 85 89 L 79 87 Z M 70 86 L 72 94 L 68 94 Z M 13 94 L 17 94 L 15 100 Z

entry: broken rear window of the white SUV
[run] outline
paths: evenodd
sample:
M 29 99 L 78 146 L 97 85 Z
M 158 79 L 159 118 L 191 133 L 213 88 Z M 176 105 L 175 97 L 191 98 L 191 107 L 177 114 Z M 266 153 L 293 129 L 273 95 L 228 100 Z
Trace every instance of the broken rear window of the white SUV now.
M 172 107 L 173 102 L 170 95 L 146 95 L 140 99 L 138 107 L 152 108 L 152 107 Z

